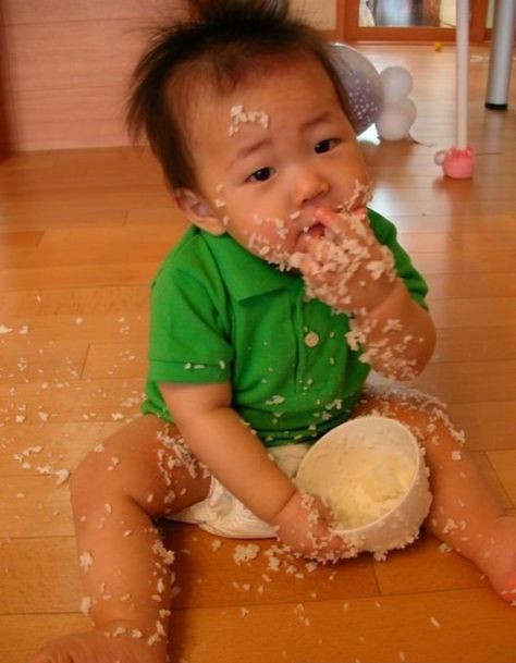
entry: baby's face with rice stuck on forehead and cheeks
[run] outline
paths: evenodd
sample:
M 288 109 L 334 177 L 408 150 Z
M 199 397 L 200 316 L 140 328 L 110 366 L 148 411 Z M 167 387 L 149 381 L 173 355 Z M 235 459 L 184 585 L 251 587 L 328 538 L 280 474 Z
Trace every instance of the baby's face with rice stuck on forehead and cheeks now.
M 316 209 L 353 211 L 369 199 L 355 134 L 315 61 L 212 93 L 189 139 L 198 193 L 220 231 L 265 260 L 284 265 L 307 233 L 320 234 Z

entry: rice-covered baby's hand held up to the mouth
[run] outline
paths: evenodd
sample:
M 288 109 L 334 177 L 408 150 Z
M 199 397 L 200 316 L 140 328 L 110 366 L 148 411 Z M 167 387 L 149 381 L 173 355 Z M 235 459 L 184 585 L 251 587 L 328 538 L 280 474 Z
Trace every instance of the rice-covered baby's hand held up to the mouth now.
M 291 265 L 300 270 L 307 293 L 336 310 L 367 314 L 386 297 L 396 283 L 394 258 L 369 228 L 366 211 L 316 211 L 324 235 L 306 233 Z

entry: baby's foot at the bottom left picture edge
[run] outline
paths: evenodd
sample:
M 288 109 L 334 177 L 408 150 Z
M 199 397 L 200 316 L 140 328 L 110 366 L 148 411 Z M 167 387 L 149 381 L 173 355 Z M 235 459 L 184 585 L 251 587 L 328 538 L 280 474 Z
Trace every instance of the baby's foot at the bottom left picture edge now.
M 149 644 L 139 631 L 124 628 L 111 626 L 109 636 L 107 628 L 96 628 L 58 638 L 40 649 L 30 663 L 167 663 L 164 641 Z

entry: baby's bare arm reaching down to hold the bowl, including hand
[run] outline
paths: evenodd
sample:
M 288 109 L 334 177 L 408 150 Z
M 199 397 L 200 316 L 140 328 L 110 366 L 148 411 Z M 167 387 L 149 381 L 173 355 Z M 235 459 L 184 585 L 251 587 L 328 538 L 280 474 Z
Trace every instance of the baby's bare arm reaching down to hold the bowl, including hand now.
M 231 407 L 231 385 L 161 384 L 165 403 L 195 456 L 255 515 L 278 529 L 294 552 L 333 560 L 343 541 L 331 533 L 332 514 L 299 493 Z

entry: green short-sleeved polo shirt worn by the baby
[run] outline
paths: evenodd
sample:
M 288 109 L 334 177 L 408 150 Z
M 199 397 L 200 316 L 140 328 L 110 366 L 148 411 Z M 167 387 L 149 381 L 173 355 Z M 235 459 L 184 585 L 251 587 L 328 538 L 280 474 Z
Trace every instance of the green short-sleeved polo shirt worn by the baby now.
M 369 218 L 426 306 L 427 285 L 394 225 L 373 211 Z M 346 315 L 306 299 L 299 275 L 193 226 L 152 284 L 143 412 L 172 420 L 160 382 L 230 381 L 232 406 L 266 445 L 314 441 L 347 419 L 370 370 L 347 346 L 348 330 Z

